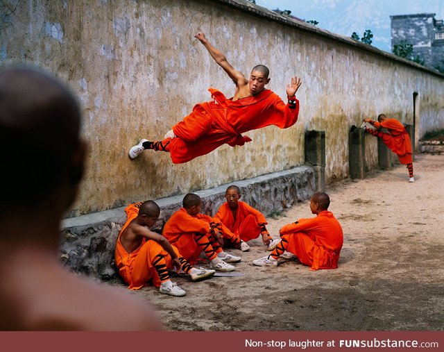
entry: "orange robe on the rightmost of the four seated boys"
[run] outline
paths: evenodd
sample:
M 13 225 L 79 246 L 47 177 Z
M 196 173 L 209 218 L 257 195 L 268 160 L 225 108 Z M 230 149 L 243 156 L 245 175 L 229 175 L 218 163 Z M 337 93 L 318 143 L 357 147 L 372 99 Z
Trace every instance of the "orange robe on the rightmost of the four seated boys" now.
M 299 219 L 281 228 L 287 251 L 313 270 L 336 269 L 343 244 L 341 225 L 332 212 L 320 212 L 311 219 Z

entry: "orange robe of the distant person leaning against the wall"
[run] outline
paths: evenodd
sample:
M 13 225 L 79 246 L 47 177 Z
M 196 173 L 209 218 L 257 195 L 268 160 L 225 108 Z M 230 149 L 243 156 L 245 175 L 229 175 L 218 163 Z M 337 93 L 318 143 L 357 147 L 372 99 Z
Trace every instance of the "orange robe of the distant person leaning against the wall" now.
M 404 125 L 397 119 L 386 119 L 382 122 L 373 122 L 376 128 L 386 128 L 389 133 L 382 134 L 382 142 L 398 155 L 401 164 L 411 164 L 411 142 L 409 133 L 405 131 Z

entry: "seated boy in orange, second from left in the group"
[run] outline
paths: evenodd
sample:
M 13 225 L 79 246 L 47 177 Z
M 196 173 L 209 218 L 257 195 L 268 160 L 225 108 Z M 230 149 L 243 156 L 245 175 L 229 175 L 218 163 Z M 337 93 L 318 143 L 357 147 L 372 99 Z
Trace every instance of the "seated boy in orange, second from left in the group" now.
M 211 217 L 200 214 L 201 203 L 197 194 L 187 194 L 183 199 L 183 207 L 171 215 L 162 234 L 189 262 L 196 262 L 203 252 L 210 260 L 212 269 L 233 271 L 235 268 L 228 263 L 240 262 L 241 258 L 222 250 L 221 234 Z

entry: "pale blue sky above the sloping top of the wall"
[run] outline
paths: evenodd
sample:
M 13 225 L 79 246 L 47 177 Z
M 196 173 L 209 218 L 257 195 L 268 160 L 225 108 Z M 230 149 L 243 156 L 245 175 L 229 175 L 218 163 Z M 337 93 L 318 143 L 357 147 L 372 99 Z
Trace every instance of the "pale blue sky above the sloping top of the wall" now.
M 391 52 L 391 15 L 435 13 L 444 19 L 444 0 L 256 0 L 256 4 L 275 10 L 291 10 L 291 15 L 314 19 L 319 28 L 332 33 L 361 37 L 366 29 L 373 33 L 372 45 Z

